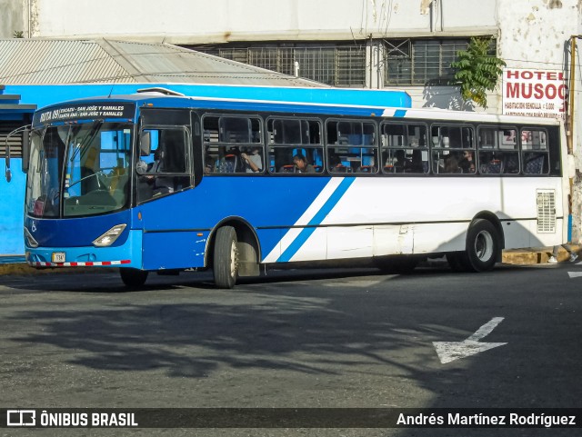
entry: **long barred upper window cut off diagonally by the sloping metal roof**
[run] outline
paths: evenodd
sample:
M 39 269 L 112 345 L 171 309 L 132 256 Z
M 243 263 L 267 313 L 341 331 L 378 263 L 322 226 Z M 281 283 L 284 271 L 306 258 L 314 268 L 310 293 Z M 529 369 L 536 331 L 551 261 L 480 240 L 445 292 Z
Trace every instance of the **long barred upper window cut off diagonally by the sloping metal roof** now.
M 194 50 L 334 86 L 366 86 L 366 45 L 202 45 Z

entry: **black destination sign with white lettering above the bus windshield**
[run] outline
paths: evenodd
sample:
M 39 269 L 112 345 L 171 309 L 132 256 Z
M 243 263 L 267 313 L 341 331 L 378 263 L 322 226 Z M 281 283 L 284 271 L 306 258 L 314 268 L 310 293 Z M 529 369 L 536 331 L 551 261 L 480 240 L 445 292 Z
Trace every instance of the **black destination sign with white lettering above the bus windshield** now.
M 105 120 L 107 118 L 133 118 L 134 104 L 98 103 L 70 104 L 40 110 L 35 113 L 34 124 L 49 124 L 54 122 L 70 122 L 74 120 Z

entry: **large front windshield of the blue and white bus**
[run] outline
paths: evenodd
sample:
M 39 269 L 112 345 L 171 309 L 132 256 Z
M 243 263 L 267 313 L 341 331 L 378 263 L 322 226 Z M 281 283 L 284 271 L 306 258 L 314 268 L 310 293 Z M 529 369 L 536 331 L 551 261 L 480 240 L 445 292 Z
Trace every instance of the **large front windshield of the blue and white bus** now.
M 132 130 L 132 124 L 93 121 L 34 131 L 27 214 L 75 217 L 127 207 Z

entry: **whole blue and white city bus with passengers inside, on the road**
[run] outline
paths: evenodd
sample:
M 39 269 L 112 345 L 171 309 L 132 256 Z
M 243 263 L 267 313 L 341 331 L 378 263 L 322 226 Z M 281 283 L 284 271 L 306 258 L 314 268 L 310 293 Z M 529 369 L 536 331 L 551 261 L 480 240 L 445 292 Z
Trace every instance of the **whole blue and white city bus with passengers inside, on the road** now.
M 481 272 L 503 249 L 567 240 L 552 120 L 143 93 L 45 107 L 28 148 L 27 262 L 116 267 L 129 286 L 443 255 Z

